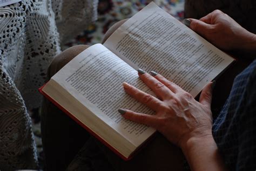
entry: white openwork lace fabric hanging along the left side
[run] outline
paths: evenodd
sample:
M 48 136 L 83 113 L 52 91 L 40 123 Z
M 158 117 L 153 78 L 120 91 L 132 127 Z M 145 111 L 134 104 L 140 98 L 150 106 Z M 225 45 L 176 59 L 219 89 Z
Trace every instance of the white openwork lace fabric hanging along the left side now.
M 97 18 L 98 1 L 23 0 L 0 8 L 0 169 L 35 169 L 28 110 L 64 44 Z M 61 40 L 61 41 L 60 41 Z

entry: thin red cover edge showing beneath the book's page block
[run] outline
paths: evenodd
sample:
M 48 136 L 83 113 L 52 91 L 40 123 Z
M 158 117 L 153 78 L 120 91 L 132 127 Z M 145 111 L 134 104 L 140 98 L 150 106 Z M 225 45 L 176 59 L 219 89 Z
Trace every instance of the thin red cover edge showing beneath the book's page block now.
M 126 158 L 124 155 L 122 155 L 121 153 L 119 153 L 115 148 L 113 148 L 109 143 L 107 143 L 104 139 L 100 138 L 100 136 L 98 136 L 95 132 L 93 132 L 89 127 L 87 127 L 86 125 L 84 125 L 81 121 L 79 121 L 74 115 L 72 115 L 69 111 L 65 110 L 64 107 L 62 107 L 61 105 L 58 104 L 58 102 L 56 102 L 55 100 L 53 100 L 48 94 L 46 94 L 45 92 L 43 92 L 43 87 L 46 84 L 44 84 L 42 87 L 40 87 L 38 89 L 38 91 L 44 95 L 44 97 L 48 100 L 50 100 L 54 105 L 56 105 L 60 110 L 62 110 L 63 112 L 65 112 L 66 114 L 69 115 L 69 117 L 73 120 L 75 120 L 80 126 L 82 126 L 83 128 L 86 129 L 87 132 L 89 132 L 90 134 L 92 134 L 93 136 L 95 136 L 95 138 L 97 138 L 100 142 L 102 142 L 105 146 L 109 147 L 114 153 L 116 153 L 118 156 L 120 156 L 120 158 L 122 158 L 125 161 L 128 161 L 130 159 L 133 158 L 133 156 L 135 154 L 137 154 L 137 152 L 139 151 L 138 149 L 136 151 L 134 151 L 129 158 Z M 156 133 L 154 133 L 153 135 L 155 135 Z M 143 145 L 146 145 L 146 143 L 150 142 L 149 140 L 152 139 L 153 135 L 143 143 Z M 139 148 L 142 148 L 142 146 L 140 146 Z

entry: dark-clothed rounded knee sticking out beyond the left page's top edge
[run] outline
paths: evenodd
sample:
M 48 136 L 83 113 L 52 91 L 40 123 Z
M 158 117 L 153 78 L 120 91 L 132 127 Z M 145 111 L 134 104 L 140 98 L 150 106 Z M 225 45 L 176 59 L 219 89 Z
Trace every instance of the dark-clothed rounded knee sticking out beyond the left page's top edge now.
M 56 72 L 62 69 L 70 60 L 75 58 L 79 53 L 87 49 L 88 45 L 76 45 L 69 47 L 65 51 L 59 53 L 48 67 L 48 78 L 50 79 Z

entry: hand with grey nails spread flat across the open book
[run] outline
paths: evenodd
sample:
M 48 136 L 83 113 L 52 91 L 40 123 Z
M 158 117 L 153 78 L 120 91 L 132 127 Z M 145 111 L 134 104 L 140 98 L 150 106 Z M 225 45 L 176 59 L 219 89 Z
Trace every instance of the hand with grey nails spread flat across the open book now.
M 206 85 L 198 102 L 190 93 L 160 74 L 153 77 L 149 73 L 144 73 L 139 74 L 139 77 L 159 99 L 127 83 L 123 84 L 124 90 L 156 111 L 156 114 L 149 115 L 122 109 L 123 112 L 126 111 L 123 114 L 124 118 L 156 128 L 169 141 L 181 148 L 191 138 L 212 135 L 212 82 Z M 120 113 L 123 113 L 122 110 Z

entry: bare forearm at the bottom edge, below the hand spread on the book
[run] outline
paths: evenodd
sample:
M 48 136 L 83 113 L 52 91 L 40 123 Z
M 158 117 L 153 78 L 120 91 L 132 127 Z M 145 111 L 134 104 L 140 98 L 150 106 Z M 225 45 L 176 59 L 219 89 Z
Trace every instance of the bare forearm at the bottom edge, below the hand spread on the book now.
M 182 149 L 191 170 L 226 170 L 212 135 L 191 138 Z

